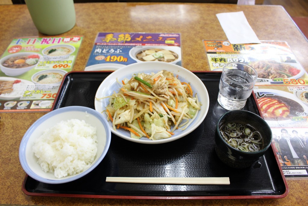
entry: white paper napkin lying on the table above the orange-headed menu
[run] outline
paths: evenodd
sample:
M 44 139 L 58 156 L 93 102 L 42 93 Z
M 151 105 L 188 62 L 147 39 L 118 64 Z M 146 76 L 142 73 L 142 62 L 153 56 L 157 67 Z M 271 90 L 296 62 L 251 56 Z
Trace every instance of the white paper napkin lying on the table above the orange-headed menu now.
M 243 11 L 216 14 L 231 44 L 260 44 Z

